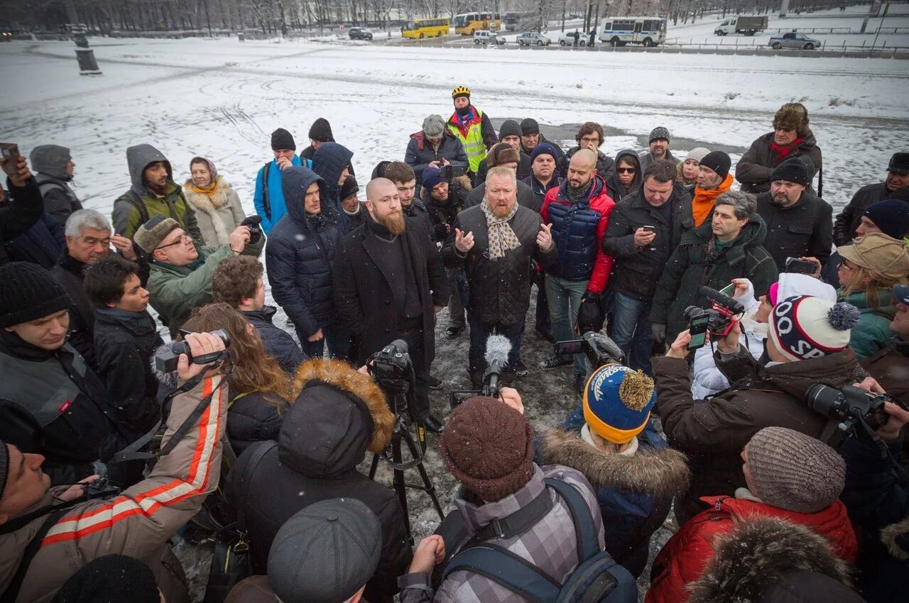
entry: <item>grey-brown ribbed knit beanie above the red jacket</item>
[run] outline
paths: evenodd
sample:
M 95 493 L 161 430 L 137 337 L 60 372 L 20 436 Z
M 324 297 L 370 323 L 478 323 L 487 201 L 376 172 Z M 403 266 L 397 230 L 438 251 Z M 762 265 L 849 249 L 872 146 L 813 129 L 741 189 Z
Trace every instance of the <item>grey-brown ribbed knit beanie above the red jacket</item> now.
M 754 496 L 796 513 L 834 504 L 845 486 L 846 466 L 836 450 L 784 427 L 765 427 L 745 444 Z

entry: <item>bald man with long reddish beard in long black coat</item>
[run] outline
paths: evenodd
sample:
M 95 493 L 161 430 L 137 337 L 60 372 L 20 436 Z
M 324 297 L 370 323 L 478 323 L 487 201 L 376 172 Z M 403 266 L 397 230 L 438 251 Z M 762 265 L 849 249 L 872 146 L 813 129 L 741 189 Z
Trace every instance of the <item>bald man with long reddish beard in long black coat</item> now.
M 442 423 L 429 411 L 435 316 L 448 302 L 445 265 L 424 223 L 406 217 L 395 183 L 366 184 L 366 220 L 335 252 L 335 308 L 350 329 L 356 366 L 397 339 L 407 343 L 416 376 L 412 409 L 426 430 Z

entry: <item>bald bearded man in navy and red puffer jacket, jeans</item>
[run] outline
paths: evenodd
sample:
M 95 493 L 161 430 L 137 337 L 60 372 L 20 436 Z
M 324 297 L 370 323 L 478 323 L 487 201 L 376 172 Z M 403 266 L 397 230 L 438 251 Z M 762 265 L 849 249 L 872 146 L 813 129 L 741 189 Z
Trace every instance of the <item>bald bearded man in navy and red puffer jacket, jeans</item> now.
M 613 258 L 603 251 L 609 213 L 615 203 L 606 193 L 606 183 L 596 173 L 596 153 L 581 149 L 571 158 L 564 182 L 550 189 L 543 200 L 543 223 L 552 224 L 558 259 L 546 267 L 546 300 L 555 341 L 574 339 L 580 330 L 603 326 L 600 295 Z M 540 363 L 544 369 L 571 364 L 570 357 L 553 356 Z M 574 356 L 574 389 L 584 389 L 584 354 Z

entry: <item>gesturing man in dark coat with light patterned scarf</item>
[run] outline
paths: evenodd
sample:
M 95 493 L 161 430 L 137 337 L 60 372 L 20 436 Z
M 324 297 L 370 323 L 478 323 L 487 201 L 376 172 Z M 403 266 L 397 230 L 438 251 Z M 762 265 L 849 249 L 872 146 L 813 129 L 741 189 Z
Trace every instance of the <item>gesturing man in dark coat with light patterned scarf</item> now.
M 458 214 L 443 251 L 445 263 L 453 268 L 464 266 L 467 275 L 468 371 L 474 386 L 483 382 L 483 353 L 493 333 L 511 341 L 507 368 L 526 373 L 521 335 L 530 306 L 530 262 L 547 266 L 555 256 L 549 226 L 539 213 L 517 204 L 514 170 L 489 170 L 483 203 Z

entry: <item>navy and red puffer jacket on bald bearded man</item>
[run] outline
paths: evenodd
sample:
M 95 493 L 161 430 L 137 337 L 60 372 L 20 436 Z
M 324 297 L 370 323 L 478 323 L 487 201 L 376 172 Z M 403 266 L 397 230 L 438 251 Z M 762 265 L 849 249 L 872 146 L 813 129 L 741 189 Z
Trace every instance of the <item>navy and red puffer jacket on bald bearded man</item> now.
M 587 291 L 602 293 L 613 268 L 613 257 L 606 255 L 602 243 L 615 203 L 599 176 L 594 175 L 587 196 L 574 203 L 565 196 L 568 185 L 565 181 L 550 189 L 540 210 L 543 222 L 553 225 L 559 250 L 558 260 L 546 272 L 566 281 L 588 281 Z

